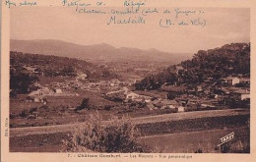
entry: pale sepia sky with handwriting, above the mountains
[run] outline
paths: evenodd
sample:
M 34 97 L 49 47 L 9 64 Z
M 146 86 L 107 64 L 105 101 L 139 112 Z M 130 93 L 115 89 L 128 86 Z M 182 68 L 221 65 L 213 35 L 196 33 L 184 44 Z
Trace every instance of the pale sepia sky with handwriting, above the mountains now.
M 120 8 L 113 8 L 121 10 Z M 146 24 L 109 25 L 110 16 L 78 14 L 73 8 L 32 7 L 11 9 L 11 39 L 57 39 L 67 42 L 93 45 L 107 43 L 114 47 L 158 49 L 170 53 L 196 53 L 198 50 L 221 47 L 226 43 L 250 41 L 249 9 L 202 8 L 203 15 L 171 14 L 144 17 Z M 199 10 L 183 9 L 180 10 Z M 127 19 L 129 16 L 116 16 Z M 133 15 L 130 16 L 134 18 Z M 160 19 L 177 24 L 201 18 L 205 27 L 160 27 Z

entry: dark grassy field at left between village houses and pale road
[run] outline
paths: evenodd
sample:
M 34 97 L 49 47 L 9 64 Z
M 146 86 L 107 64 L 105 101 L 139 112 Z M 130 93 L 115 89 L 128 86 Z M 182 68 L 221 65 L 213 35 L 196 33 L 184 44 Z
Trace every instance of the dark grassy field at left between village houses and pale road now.
M 88 120 L 90 114 L 96 113 L 95 110 L 90 112 L 80 111 L 75 112 L 74 108 L 81 105 L 84 97 L 90 98 L 90 104 L 93 104 L 94 109 L 103 109 L 104 105 L 114 105 L 117 103 L 108 101 L 100 96 L 99 93 L 76 90 L 80 96 L 56 96 L 47 98 L 47 108 L 41 108 L 44 105 L 42 103 L 26 102 L 26 95 L 18 95 L 17 98 L 10 100 L 10 120 L 11 128 L 15 127 L 32 127 L 32 126 L 47 126 L 68 124 L 75 122 L 84 122 Z M 44 106 L 45 107 L 45 106 Z M 25 111 L 30 112 L 33 108 L 36 108 L 38 118 L 28 119 L 26 116 L 21 116 Z M 101 111 L 103 119 L 108 119 L 109 115 L 117 114 L 117 110 Z

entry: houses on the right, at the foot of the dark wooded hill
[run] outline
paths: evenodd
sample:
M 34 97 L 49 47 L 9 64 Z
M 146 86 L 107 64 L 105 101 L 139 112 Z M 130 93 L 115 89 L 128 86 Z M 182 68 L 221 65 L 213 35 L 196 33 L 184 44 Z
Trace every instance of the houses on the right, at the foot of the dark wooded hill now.
M 211 81 L 211 79 L 209 79 Z M 245 86 L 236 86 L 243 83 Z M 152 97 L 140 95 L 128 88 L 110 91 L 105 94 L 107 98 L 119 98 L 124 102 L 145 102 L 150 110 L 175 109 L 178 112 L 192 111 L 196 109 L 216 109 L 220 107 L 220 100 L 224 97 L 235 97 L 238 101 L 250 99 L 250 80 L 248 78 L 227 77 L 221 80 L 221 84 L 203 82 L 193 88 L 186 85 L 163 85 L 161 90 L 177 94 L 173 99 L 168 97 Z

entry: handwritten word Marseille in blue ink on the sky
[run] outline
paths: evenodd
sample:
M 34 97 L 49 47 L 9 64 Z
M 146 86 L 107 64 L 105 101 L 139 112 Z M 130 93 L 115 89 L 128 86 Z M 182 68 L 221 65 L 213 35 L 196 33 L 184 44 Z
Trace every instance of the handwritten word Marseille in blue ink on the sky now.
M 146 24 L 146 21 L 141 16 L 134 18 L 129 17 L 127 19 L 117 19 L 115 16 L 112 16 L 107 22 L 107 25 L 111 24 Z

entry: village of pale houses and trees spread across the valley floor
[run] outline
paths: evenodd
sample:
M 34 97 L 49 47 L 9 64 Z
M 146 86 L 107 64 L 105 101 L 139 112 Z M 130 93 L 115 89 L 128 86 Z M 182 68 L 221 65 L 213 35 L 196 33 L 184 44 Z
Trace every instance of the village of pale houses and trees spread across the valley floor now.
M 46 98 L 49 97 L 79 96 L 74 90 L 80 89 L 96 92 L 102 98 L 113 102 L 140 103 L 143 105 L 141 108 L 151 111 L 170 109 L 171 112 L 186 112 L 231 108 L 227 104 L 230 99 L 233 99 L 230 102 L 235 102 L 239 108 L 249 107 L 250 103 L 250 80 L 244 76 L 229 76 L 219 82 L 213 82 L 213 79 L 209 78 L 189 88 L 186 84 L 163 84 L 159 91 L 153 92 L 134 89 L 136 80 L 132 79 L 92 82 L 86 78 L 86 74 L 78 74 L 73 80 L 50 82 L 45 85 L 34 82 L 33 85 L 37 89 L 29 93 L 27 99 L 30 102 L 47 104 Z

